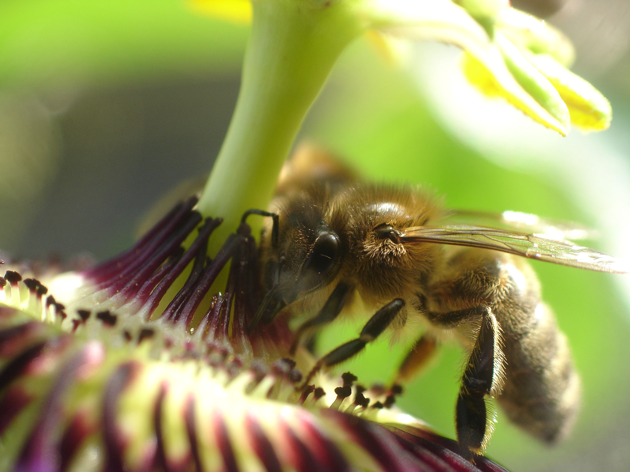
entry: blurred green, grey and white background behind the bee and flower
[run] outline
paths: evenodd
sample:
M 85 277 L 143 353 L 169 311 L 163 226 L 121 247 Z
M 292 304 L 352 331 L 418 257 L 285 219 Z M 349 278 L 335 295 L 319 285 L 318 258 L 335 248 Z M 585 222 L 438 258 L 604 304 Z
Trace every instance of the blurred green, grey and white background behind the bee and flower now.
M 630 3 L 518 5 L 557 10 L 549 21 L 574 40 L 574 70 L 612 101 L 610 130 L 573 130 L 563 140 L 501 104 L 484 114 L 457 82 L 452 48 L 415 48 L 401 70 L 361 40 L 341 58 L 302 137 L 368 178 L 425 184 L 454 208 L 593 225 L 602 239 L 592 245 L 627 255 Z M 181 0 L 1 0 L 0 247 L 25 258 L 89 252 L 99 260 L 127 247 L 156 199 L 209 171 L 238 93 L 246 37 L 245 27 L 205 18 Z M 625 471 L 627 278 L 534 266 L 573 347 L 582 413 L 555 449 L 500 414 L 488 453 L 513 471 Z M 325 330 L 319 349 L 355 337 L 363 322 Z M 364 383 L 386 381 L 405 349 L 382 340 L 342 369 Z M 400 405 L 454 435 L 462 361 L 460 349 L 444 347 Z

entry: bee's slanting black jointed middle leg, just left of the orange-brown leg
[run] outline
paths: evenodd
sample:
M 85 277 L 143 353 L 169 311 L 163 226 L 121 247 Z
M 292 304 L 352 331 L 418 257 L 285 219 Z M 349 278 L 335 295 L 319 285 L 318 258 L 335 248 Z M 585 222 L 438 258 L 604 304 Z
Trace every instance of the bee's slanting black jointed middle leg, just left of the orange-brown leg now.
M 313 376 L 318 373 L 321 368 L 332 367 L 361 352 L 367 343 L 375 340 L 389 326 L 403 306 L 404 300 L 402 298 L 396 298 L 383 306 L 381 310 L 376 312 L 374 316 L 365 323 L 357 339 L 341 344 L 341 346 L 336 347 L 328 352 L 326 356 L 319 359 L 311 369 L 311 372 L 306 376 L 303 386 L 308 385 Z

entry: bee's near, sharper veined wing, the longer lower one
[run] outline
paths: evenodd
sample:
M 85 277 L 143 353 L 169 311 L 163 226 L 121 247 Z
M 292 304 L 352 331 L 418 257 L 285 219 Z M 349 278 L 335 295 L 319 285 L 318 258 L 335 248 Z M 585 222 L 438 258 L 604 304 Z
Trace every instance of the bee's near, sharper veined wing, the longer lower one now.
M 401 230 L 401 237 L 403 242 L 482 247 L 591 271 L 630 272 L 630 267 L 621 259 L 570 241 L 549 239 L 546 235 L 533 233 L 474 225 L 444 225 L 405 228 Z

